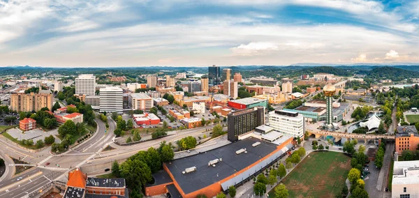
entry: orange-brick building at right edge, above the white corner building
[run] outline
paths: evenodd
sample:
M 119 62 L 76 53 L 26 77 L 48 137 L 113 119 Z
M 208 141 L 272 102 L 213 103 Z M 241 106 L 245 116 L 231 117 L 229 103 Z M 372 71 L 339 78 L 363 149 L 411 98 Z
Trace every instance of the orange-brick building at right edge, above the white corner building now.
M 399 125 L 396 133 L 396 152 L 416 151 L 419 144 L 418 130 L 414 125 Z

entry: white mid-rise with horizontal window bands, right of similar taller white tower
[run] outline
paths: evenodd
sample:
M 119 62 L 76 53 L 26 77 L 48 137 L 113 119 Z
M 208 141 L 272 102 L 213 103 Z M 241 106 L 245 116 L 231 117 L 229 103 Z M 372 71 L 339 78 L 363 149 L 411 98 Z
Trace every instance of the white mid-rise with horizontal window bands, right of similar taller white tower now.
M 118 114 L 122 114 L 123 96 L 121 88 L 115 86 L 107 86 L 100 89 L 100 93 L 101 112 L 117 112 Z

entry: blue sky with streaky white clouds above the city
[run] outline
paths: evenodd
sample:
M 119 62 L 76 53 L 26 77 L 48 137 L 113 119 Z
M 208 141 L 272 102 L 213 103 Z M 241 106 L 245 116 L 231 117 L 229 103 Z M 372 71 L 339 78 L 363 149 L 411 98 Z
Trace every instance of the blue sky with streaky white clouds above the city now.
M 419 63 L 419 0 L 0 0 L 0 66 Z

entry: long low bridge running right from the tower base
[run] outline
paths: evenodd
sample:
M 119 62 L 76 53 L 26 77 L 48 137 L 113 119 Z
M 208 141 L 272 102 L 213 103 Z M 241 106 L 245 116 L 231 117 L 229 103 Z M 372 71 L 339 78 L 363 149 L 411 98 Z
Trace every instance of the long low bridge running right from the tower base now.
M 386 135 L 386 134 L 358 134 L 358 133 L 348 133 L 348 132 L 332 132 L 327 130 L 307 130 L 309 135 L 315 135 L 316 138 L 321 136 L 332 136 L 332 137 L 345 137 L 353 139 L 395 139 L 395 135 Z

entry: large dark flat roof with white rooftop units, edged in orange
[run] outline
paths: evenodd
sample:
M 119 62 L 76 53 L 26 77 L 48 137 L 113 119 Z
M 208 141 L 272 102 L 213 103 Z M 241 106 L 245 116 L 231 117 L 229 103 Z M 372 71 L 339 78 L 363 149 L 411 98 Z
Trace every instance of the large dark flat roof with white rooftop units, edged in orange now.
M 277 148 L 277 145 L 268 142 L 260 142 L 258 146 L 253 147 L 252 144 L 255 142 L 260 141 L 251 137 L 242 139 L 205 153 L 173 160 L 166 165 L 180 188 L 182 188 L 185 194 L 189 194 L 249 167 L 249 165 L 272 153 Z M 246 148 L 247 153 L 237 155 L 235 152 L 241 148 Z M 221 162 L 218 162 L 216 167 L 208 167 L 210 160 L 220 158 Z M 196 167 L 196 171 L 182 174 L 189 167 Z

